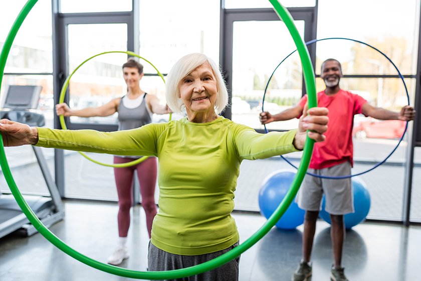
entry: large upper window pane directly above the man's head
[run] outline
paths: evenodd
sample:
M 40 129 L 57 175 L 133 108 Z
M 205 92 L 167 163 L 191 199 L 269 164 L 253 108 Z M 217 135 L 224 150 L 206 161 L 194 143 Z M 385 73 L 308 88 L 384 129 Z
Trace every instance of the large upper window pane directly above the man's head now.
M 402 74 L 414 74 L 417 15 L 419 15 L 418 0 L 399 2 L 399 5 L 392 0 L 319 0 L 317 38 L 346 37 L 372 44 L 389 56 Z M 382 74 L 395 74 L 381 55 L 371 53 L 367 51 L 368 48 L 353 42 L 337 42 L 333 43 L 330 40 L 326 47 L 318 46 L 317 57 L 321 61 L 333 57 L 343 63 L 350 63 L 350 66 L 358 67 L 361 64 L 367 66 L 363 73 L 361 67 L 356 69 L 359 73 L 351 70 L 346 74 L 379 74 L 377 63 L 371 60 L 383 63 Z M 367 56 L 358 58 L 358 54 L 361 53 Z M 320 73 L 320 68 L 316 68 L 316 73 Z

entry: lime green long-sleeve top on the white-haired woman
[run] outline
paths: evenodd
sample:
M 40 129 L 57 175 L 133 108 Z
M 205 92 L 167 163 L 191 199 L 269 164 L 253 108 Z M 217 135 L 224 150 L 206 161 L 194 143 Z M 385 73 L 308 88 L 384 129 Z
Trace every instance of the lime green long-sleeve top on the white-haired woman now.
M 159 211 L 151 242 L 180 255 L 223 250 L 239 240 L 231 212 L 244 159 L 297 151 L 292 145 L 296 130 L 260 134 L 224 117 L 207 123 L 183 118 L 116 132 L 38 128 L 38 133 L 41 147 L 157 156 Z

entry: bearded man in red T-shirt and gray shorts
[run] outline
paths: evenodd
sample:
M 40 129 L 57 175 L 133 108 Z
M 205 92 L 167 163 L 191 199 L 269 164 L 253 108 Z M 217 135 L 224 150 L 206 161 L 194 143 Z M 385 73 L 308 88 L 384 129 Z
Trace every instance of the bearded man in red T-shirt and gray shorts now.
M 328 59 L 323 62 L 320 78 L 326 84 L 326 89 L 317 93 L 319 107 L 329 109 L 329 128 L 326 141 L 314 145 L 313 156 L 308 172 L 339 177 L 351 174 L 353 165 L 352 127 L 355 114 L 364 114 L 380 120 L 409 121 L 414 118 L 415 110 L 404 106 L 400 112 L 392 112 L 367 103 L 362 97 L 344 91 L 339 87 L 342 70 L 339 61 Z M 269 112 L 260 114 L 262 124 L 274 121 L 299 118 L 307 102 L 305 95 L 297 106 L 284 110 L 276 115 Z M 331 269 L 331 280 L 347 281 L 344 268 L 341 266 L 342 248 L 345 238 L 343 216 L 354 212 L 351 178 L 323 179 L 306 175 L 297 195 L 298 206 L 306 210 L 303 234 L 303 259 L 292 276 L 293 281 L 305 281 L 311 276 L 311 250 L 319 216 L 320 202 L 326 196 L 326 211 L 330 214 L 331 238 L 334 262 Z

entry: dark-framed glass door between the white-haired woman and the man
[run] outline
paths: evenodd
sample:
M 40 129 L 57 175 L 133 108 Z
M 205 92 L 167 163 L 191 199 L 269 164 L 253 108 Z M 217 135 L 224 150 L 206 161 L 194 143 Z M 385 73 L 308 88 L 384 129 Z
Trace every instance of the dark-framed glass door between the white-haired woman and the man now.
M 289 11 L 304 41 L 316 38 L 317 9 L 289 8 Z M 264 132 L 259 114 L 268 82 L 263 107 L 273 114 L 294 106 L 305 93 L 298 54 L 285 60 L 269 81 L 278 64 L 296 49 L 295 44 L 273 9 L 224 9 L 221 22 L 220 64 L 230 93 L 230 106 L 224 116 Z M 314 66 L 315 46 L 308 46 L 308 49 Z M 296 128 L 297 124 L 298 119 L 294 119 L 274 122 L 267 127 L 270 130 L 288 130 Z M 299 153 L 288 156 L 297 161 L 301 157 Z M 236 209 L 259 211 L 261 183 L 267 175 L 279 169 L 294 168 L 279 157 L 243 161 L 237 184 L 237 190 L 241 191 L 236 194 Z

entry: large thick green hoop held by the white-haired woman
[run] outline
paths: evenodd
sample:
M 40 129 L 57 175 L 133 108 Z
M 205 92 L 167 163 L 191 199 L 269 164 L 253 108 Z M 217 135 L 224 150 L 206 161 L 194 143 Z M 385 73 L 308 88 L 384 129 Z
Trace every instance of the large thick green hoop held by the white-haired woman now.
M 20 25 L 22 24 L 25 17 L 28 15 L 29 11 L 32 9 L 34 4 L 38 0 L 29 0 L 25 7 L 22 9 L 21 13 L 19 14 L 17 20 L 15 21 L 11 32 L 8 35 L 8 38 L 5 42 L 5 47 L 0 54 L 0 74 L 3 76 L 3 70 L 5 67 L 5 62 L 10 51 L 10 47 L 12 46 L 12 42 L 16 36 L 16 32 L 19 30 Z M 315 107 L 317 106 L 317 97 L 316 97 L 316 83 L 315 83 L 315 76 L 314 70 L 311 65 L 310 56 L 307 50 L 306 45 L 302 41 L 300 34 L 297 31 L 297 28 L 294 25 L 293 19 L 286 8 L 284 8 L 278 1 L 279 0 L 269 0 L 273 5 L 276 13 L 284 21 L 285 25 L 287 26 L 288 30 L 291 33 L 291 36 L 297 46 L 298 53 L 301 58 L 301 64 L 303 66 L 304 71 L 304 81 L 306 84 L 306 89 L 308 93 L 308 107 Z M 10 43 L 9 45 L 6 43 Z M 1 77 L 0 76 L 0 79 Z M 0 80 L 1 86 L 1 80 Z M 282 217 L 285 213 L 289 205 L 291 204 L 292 200 L 294 199 L 295 195 L 297 194 L 298 189 L 300 188 L 301 182 L 306 174 L 308 165 L 310 163 L 311 154 L 313 151 L 314 140 L 307 137 L 303 157 L 301 158 L 300 166 L 298 168 L 297 174 L 292 182 L 291 188 L 287 192 L 285 198 L 282 200 L 281 204 L 275 210 L 274 214 L 268 219 L 268 221 L 249 239 L 247 239 L 244 243 L 239 245 L 238 247 L 232 249 L 231 251 L 207 262 L 194 265 L 188 268 L 176 269 L 171 271 L 135 271 L 126 268 L 121 268 L 109 264 L 104 264 L 94 259 L 91 259 L 71 247 L 69 247 L 66 243 L 64 243 L 60 238 L 54 235 L 47 227 L 45 227 L 41 221 L 36 217 L 34 212 L 28 206 L 22 194 L 20 193 L 16 183 L 13 179 L 12 173 L 9 168 L 9 164 L 6 159 L 3 138 L 0 141 L 0 164 L 3 169 L 3 173 L 5 178 L 9 184 L 9 187 L 15 196 L 16 200 L 18 201 L 19 206 L 22 208 L 25 215 L 31 221 L 31 223 L 36 227 L 36 229 L 46 237 L 51 243 L 53 243 L 56 247 L 67 253 L 68 255 L 76 258 L 77 260 L 92 266 L 94 268 L 100 269 L 102 271 L 112 273 L 115 275 L 120 275 L 129 278 L 137 278 L 137 279 L 173 279 L 173 278 L 181 278 L 185 276 L 196 275 L 211 269 L 214 269 L 218 266 L 221 266 L 230 260 L 236 258 L 241 253 L 249 249 L 253 246 L 257 241 L 259 241 L 269 230 L 276 224 L 276 222 Z

